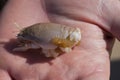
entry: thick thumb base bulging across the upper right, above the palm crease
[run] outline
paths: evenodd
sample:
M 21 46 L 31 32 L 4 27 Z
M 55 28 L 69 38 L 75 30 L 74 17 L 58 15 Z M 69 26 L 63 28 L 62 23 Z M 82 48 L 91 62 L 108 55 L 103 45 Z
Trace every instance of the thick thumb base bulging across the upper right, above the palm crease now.
M 61 19 L 68 17 L 68 19 L 89 22 L 100 26 L 120 39 L 119 0 L 92 0 L 90 2 L 88 0 L 45 1 L 51 20 L 54 21 L 53 17 L 58 15 L 57 17 L 62 16 Z M 55 20 L 57 21 L 57 19 Z

